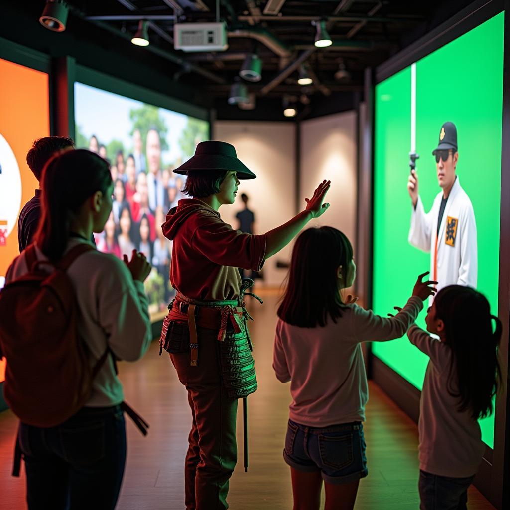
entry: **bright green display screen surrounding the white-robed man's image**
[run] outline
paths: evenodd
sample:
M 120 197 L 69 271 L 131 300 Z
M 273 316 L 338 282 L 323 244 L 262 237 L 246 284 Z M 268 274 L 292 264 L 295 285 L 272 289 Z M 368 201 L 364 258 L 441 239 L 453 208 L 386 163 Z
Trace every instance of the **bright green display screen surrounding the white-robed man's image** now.
M 503 20 L 503 13 L 498 14 L 376 85 L 373 309 L 380 315 L 402 306 L 417 275 L 430 267 L 430 253 L 408 242 L 412 213 L 406 187 L 409 153 L 416 150 L 420 155 L 416 162 L 419 194 L 428 212 L 441 191 L 431 152 L 438 147 L 446 121 L 456 126 L 456 175 L 474 210 L 477 290 L 488 298 L 492 313 L 497 313 Z M 451 219 L 446 222 L 449 226 Z M 451 238 L 441 237 L 439 242 L 443 241 L 449 244 Z M 424 316 L 418 321 L 422 327 Z M 374 342 L 372 348 L 378 358 L 421 390 L 428 358 L 406 337 Z M 480 426 L 483 441 L 492 448 L 494 418 L 482 420 Z

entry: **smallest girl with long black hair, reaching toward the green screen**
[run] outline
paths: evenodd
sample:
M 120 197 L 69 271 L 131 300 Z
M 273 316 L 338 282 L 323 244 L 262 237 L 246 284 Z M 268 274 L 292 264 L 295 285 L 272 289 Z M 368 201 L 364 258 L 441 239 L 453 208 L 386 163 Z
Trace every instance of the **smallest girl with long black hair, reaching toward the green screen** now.
M 492 414 L 500 379 L 501 322 L 482 294 L 459 285 L 438 292 L 425 322 L 441 341 L 416 324 L 407 333 L 430 358 L 418 425 L 420 509 L 465 510 L 485 451 L 477 420 Z

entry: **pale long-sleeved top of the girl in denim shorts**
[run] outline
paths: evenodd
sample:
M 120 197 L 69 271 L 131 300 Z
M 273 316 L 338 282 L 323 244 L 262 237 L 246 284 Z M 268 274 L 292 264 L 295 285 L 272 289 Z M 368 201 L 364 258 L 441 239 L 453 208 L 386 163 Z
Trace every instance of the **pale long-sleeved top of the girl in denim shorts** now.
M 423 309 L 411 297 L 401 312 L 386 318 L 349 305 L 324 327 L 276 325 L 273 368 L 291 381 L 291 420 L 310 427 L 365 420 L 368 385 L 361 342 L 402 337 Z

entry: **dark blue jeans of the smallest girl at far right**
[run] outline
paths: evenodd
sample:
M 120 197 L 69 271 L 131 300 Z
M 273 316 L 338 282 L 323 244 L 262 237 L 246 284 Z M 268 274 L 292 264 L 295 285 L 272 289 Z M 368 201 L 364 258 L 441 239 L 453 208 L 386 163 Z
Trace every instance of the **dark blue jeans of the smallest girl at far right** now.
M 451 478 L 420 470 L 420 510 L 466 510 L 473 476 Z

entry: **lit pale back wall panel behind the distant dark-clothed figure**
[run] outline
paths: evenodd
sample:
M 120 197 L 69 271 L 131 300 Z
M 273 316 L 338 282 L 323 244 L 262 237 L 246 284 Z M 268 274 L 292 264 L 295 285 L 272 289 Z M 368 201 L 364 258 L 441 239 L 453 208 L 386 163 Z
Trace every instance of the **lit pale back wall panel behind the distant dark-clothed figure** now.
M 240 194 L 249 197 L 248 206 L 256 218 L 256 234 L 285 223 L 295 214 L 296 127 L 293 122 L 216 121 L 213 140 L 234 145 L 238 158 L 257 175 L 241 181 L 239 195 L 232 206 L 220 209 L 221 218 L 237 228 L 236 213 L 242 209 Z M 290 260 L 291 247 L 269 259 L 264 267 L 264 285 L 277 287 L 287 274 L 276 262 Z

